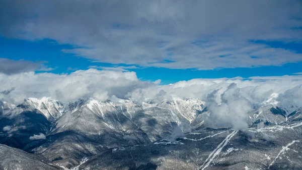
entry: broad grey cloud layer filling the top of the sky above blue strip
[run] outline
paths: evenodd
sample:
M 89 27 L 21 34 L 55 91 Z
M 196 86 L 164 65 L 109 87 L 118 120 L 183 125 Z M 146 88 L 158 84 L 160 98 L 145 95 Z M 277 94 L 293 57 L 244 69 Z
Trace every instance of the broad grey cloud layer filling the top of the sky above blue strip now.
M 75 48 L 63 52 L 103 63 L 199 70 L 278 66 L 302 60 L 301 53 L 269 45 L 302 40 L 301 11 L 298 0 L 14 0 L 0 4 L 0 33 L 71 44 Z

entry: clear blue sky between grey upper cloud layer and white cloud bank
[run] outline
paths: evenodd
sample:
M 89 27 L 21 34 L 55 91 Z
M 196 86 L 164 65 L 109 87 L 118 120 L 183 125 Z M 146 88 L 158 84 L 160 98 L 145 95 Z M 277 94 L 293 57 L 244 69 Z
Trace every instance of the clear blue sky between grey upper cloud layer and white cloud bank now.
M 278 48 L 286 48 L 302 53 L 302 43 L 281 43 L 265 42 Z M 46 65 L 54 68 L 50 73 L 71 73 L 75 70 L 87 70 L 89 66 L 111 67 L 108 63 L 92 63 L 92 60 L 71 53 L 64 53 L 61 50 L 72 48 L 71 45 L 60 45 L 54 40 L 44 39 L 38 41 L 28 41 L 20 39 L 10 39 L 0 37 L 0 58 L 11 60 L 27 61 L 46 61 Z M 70 69 L 68 69 L 70 68 Z M 74 69 L 74 70 L 73 70 Z M 162 80 L 162 84 L 175 83 L 181 80 L 190 80 L 194 78 L 233 78 L 252 76 L 283 76 L 294 75 L 302 72 L 302 62 L 287 63 L 281 66 L 264 66 L 253 68 L 227 68 L 214 70 L 196 70 L 196 69 L 168 69 L 146 67 L 141 69 L 128 69 L 134 71 L 141 80 L 156 81 Z M 39 72 L 39 71 L 38 71 Z

